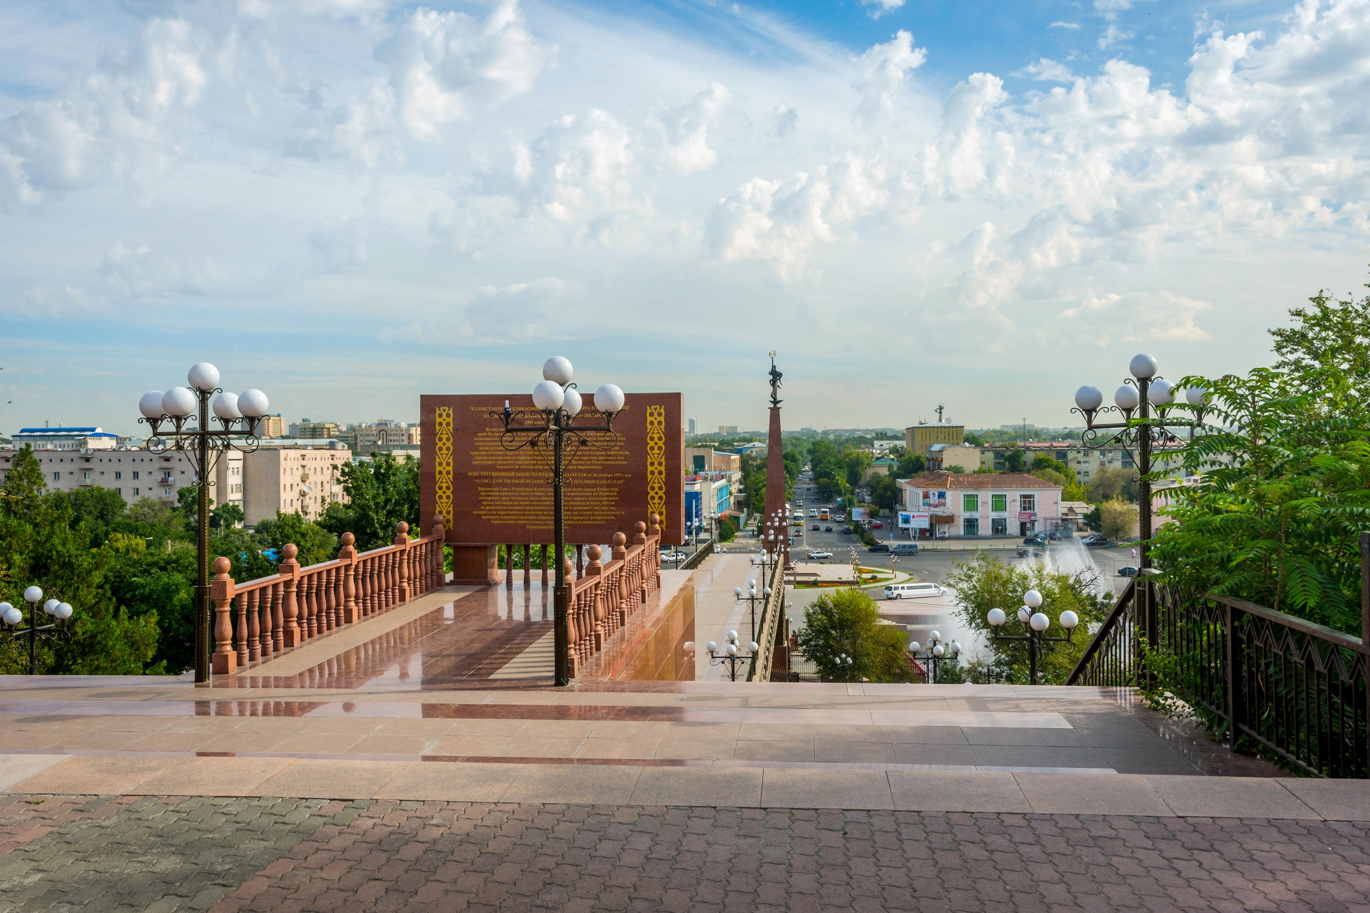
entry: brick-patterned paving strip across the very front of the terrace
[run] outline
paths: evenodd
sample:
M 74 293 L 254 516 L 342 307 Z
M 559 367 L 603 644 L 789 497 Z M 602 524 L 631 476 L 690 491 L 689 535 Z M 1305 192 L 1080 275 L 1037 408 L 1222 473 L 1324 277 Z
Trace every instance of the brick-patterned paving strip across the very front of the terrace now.
M 1370 824 L 0 797 L 0 910 L 1370 910 Z

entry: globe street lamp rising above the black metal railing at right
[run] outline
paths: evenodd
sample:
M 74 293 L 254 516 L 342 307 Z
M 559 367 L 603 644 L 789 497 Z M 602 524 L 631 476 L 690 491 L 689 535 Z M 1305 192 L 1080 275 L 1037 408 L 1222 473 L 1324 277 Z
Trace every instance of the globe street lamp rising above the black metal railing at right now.
M 1167 417 L 1170 408 L 1175 405 L 1177 390 L 1169 381 L 1156 374 L 1156 360 L 1149 355 L 1134 355 L 1128 365 L 1130 378 L 1114 391 L 1114 405 L 1103 405 L 1104 394 L 1096 386 L 1085 385 L 1075 390 L 1075 408 L 1071 412 L 1085 417 L 1085 431 L 1080 435 L 1082 446 L 1099 449 L 1112 443 L 1121 445 L 1125 450 L 1136 448 L 1133 459 L 1140 472 L 1137 480 L 1137 526 L 1141 534 L 1141 568 L 1151 567 L 1148 557 L 1148 542 L 1151 541 L 1151 446 L 1154 443 L 1182 443 L 1169 428 L 1189 428 L 1193 438 L 1195 427 L 1203 423 L 1204 407 L 1208 401 L 1208 391 L 1201 387 L 1189 387 L 1185 393 L 1185 402 L 1189 404 L 1192 419 Z M 1155 407 L 1156 413 L 1151 409 Z M 1095 417 L 1104 412 L 1117 412 L 1122 422 L 1110 424 L 1096 424 Z M 1118 430 L 1118 434 L 1108 439 L 1099 439 L 1099 431 Z M 1128 450 L 1132 457 L 1132 450 Z

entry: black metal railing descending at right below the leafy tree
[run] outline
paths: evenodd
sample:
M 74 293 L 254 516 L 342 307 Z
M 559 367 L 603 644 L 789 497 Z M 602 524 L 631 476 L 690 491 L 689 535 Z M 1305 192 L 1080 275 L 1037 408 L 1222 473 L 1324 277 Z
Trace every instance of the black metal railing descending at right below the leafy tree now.
M 1144 643 L 1156 668 L 1147 668 Z M 1151 683 L 1236 749 L 1312 776 L 1370 776 L 1370 649 L 1254 602 L 1133 580 L 1066 684 Z

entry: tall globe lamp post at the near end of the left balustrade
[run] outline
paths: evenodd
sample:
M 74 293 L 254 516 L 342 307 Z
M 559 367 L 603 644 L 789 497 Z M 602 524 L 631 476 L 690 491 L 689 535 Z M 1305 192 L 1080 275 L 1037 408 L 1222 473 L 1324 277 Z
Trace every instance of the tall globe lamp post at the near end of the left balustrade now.
M 234 449 L 252 453 L 258 448 L 258 426 L 270 401 L 260 390 L 225 393 L 219 387 L 219 370 L 208 361 L 190 365 L 189 387 L 171 387 L 166 393 L 149 390 L 138 400 L 141 424 L 147 424 L 148 452 L 158 456 L 167 450 L 185 453 L 195 467 L 199 489 L 196 511 L 196 582 L 195 582 L 195 680 L 210 680 L 210 491 L 219 456 Z M 214 396 L 218 394 L 218 396 Z M 219 427 L 210 426 L 210 397 Z M 190 424 L 190 420 L 195 424 Z M 244 441 L 240 446 L 237 441 Z M 295 646 L 288 643 L 286 646 Z

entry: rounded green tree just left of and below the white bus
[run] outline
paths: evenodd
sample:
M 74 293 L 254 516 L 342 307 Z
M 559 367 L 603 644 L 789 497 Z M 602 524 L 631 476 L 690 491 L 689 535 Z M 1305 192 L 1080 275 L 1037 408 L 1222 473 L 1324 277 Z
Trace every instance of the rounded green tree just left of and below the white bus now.
M 819 595 L 804 609 L 799 632 L 799 649 L 825 679 L 908 682 L 907 645 L 904 632 L 881 623 L 875 602 L 858 589 Z M 838 654 L 852 657 L 851 668 L 838 667 Z

